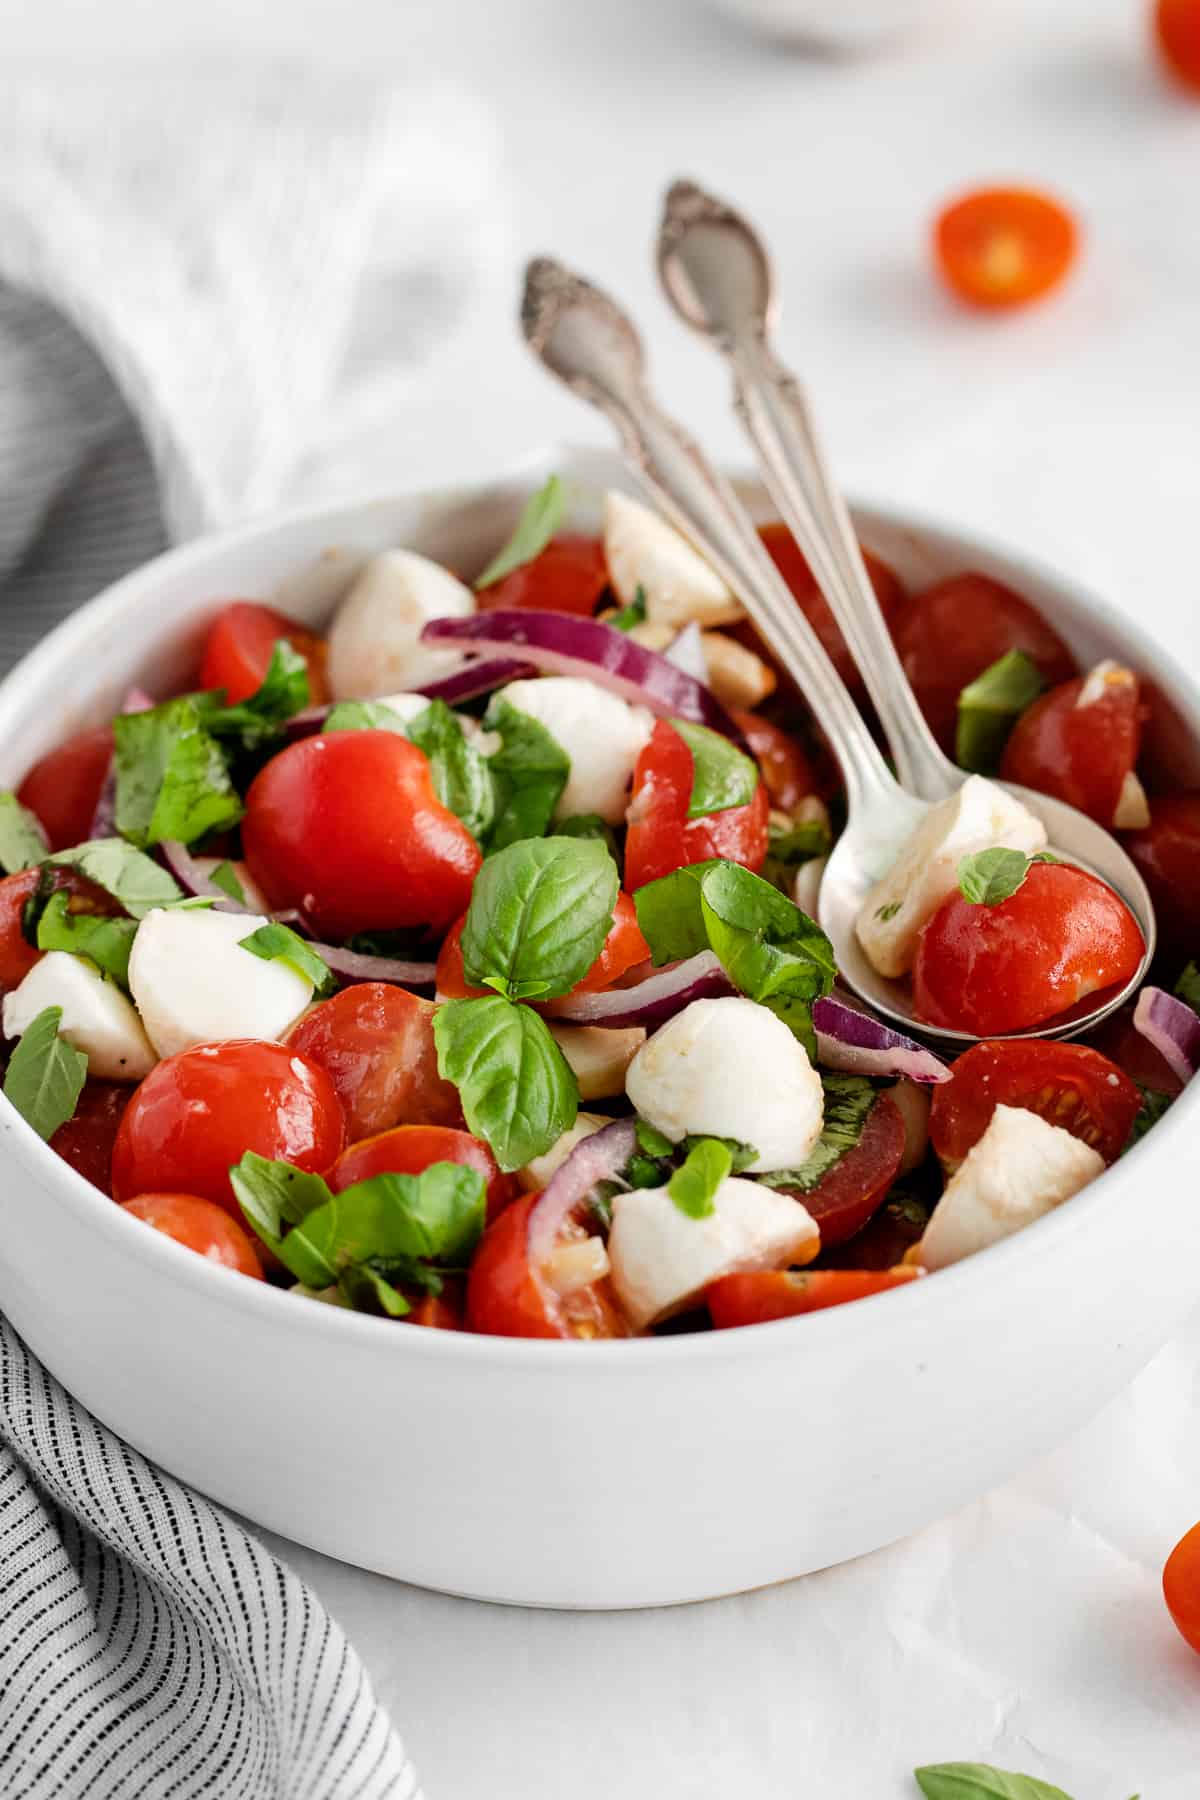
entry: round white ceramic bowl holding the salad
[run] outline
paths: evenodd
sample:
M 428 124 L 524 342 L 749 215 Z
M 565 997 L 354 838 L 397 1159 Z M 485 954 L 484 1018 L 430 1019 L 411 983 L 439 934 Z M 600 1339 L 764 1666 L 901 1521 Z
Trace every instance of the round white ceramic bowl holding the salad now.
M 592 490 L 594 524 L 615 461 L 552 463 Z M 130 682 L 187 680 L 225 598 L 282 590 L 320 621 L 354 558 L 396 542 L 470 572 L 542 473 L 252 526 L 140 569 L 0 688 L 0 785 Z M 1200 742 L 1195 684 L 1069 581 L 887 511 L 858 524 L 909 581 L 982 569 L 1083 661 L 1150 661 Z M 1200 1084 L 1094 1188 L 954 1269 L 637 1343 L 412 1330 L 227 1274 L 128 1219 L 7 1105 L 0 1159 L 0 1305 L 99 1418 L 288 1537 L 488 1600 L 696 1600 L 860 1555 L 1065 1438 L 1196 1301 Z

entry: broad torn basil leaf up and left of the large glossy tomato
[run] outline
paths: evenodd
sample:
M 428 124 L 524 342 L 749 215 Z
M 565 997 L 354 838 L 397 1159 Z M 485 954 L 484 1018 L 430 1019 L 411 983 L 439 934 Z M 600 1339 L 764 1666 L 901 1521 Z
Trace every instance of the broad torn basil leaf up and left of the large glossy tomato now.
M 117 830 L 140 850 L 166 839 L 193 844 L 241 819 L 221 745 L 193 698 L 119 713 L 113 743 Z

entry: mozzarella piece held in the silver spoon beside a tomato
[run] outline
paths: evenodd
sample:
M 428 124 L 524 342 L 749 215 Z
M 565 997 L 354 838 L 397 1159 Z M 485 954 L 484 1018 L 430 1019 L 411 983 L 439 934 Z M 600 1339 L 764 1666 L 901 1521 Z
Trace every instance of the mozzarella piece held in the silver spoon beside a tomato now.
M 959 862 L 1004 844 L 1031 855 L 1045 826 L 986 776 L 968 776 L 957 794 L 928 810 L 900 857 L 867 895 L 855 931 L 882 976 L 907 976 L 921 927 L 959 886 Z

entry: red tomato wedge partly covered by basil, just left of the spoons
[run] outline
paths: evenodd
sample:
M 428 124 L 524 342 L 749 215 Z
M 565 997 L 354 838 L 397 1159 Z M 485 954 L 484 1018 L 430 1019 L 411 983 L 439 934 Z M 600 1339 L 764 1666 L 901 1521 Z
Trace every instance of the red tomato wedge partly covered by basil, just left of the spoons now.
M 624 842 L 624 878 L 633 891 L 671 875 L 687 862 L 725 857 L 756 873 L 766 859 L 770 801 L 759 781 L 748 806 L 730 806 L 702 819 L 687 817 L 693 756 L 678 731 L 664 718 L 633 769 L 630 832 Z

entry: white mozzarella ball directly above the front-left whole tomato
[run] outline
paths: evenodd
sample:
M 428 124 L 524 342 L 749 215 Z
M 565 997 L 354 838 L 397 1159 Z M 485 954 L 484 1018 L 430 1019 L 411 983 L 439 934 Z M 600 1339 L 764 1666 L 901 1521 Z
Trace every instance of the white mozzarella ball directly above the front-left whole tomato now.
M 290 963 L 241 949 L 254 913 L 148 913 L 130 952 L 130 992 L 160 1057 L 232 1037 L 281 1039 L 313 997 Z

